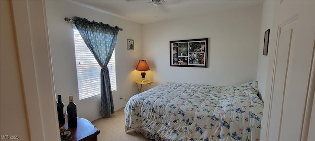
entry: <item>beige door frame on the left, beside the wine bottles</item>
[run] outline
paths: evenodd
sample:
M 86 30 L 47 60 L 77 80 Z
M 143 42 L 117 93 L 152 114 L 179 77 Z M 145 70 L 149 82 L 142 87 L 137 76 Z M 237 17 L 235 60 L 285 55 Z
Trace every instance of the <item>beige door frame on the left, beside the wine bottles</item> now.
M 45 1 L 11 2 L 30 139 L 60 141 Z

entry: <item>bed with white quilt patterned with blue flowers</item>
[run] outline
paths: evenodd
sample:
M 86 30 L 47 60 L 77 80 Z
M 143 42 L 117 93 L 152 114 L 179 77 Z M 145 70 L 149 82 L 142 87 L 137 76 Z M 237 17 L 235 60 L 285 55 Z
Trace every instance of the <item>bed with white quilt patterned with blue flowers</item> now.
M 165 83 L 130 98 L 125 131 L 166 141 L 259 141 L 258 83 L 210 86 Z

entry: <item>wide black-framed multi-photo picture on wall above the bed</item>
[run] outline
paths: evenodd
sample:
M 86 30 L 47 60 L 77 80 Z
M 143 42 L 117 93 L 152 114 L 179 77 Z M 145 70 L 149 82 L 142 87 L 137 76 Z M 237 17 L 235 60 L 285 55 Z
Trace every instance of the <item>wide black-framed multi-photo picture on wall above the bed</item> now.
M 170 41 L 169 48 L 170 66 L 208 66 L 208 38 Z

